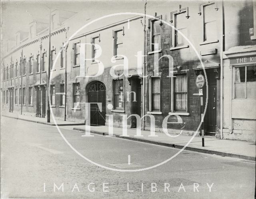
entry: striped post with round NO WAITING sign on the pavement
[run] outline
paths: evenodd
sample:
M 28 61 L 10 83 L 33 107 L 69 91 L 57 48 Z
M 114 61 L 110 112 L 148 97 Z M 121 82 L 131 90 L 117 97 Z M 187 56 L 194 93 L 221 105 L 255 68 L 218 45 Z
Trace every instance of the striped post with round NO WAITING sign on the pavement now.
M 204 118 L 204 101 L 203 101 L 203 87 L 205 83 L 204 76 L 200 74 L 196 77 L 196 87 L 198 88 L 198 93 L 200 96 L 200 119 L 202 120 Z M 202 125 L 201 125 L 201 134 L 202 134 L 202 146 L 204 146 L 204 120 L 202 120 Z

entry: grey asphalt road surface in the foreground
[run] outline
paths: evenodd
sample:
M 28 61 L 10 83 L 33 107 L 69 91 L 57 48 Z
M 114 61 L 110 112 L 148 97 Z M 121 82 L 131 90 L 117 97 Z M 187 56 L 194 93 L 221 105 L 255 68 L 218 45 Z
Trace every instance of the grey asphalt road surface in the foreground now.
M 60 130 L 82 156 L 113 169 L 143 169 L 179 151 Z M 55 126 L 1 118 L 1 198 L 248 199 L 254 192 L 255 162 L 184 150 L 146 171 L 112 171 L 79 156 Z

